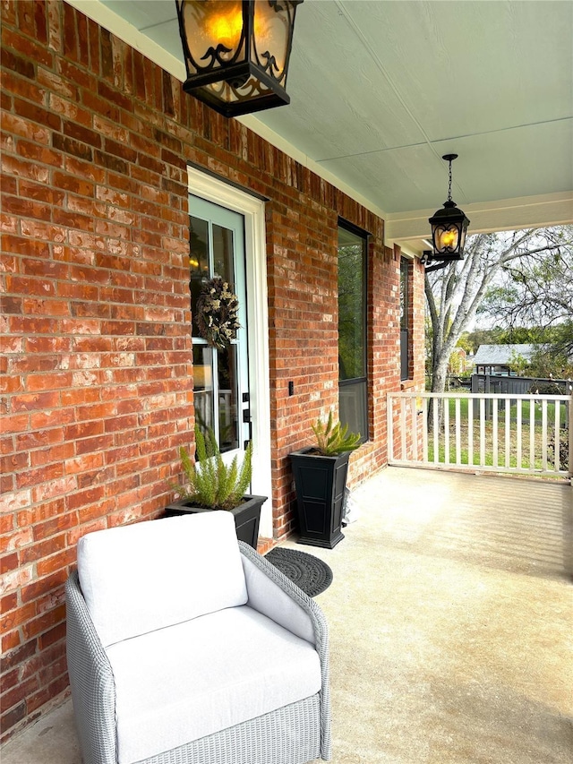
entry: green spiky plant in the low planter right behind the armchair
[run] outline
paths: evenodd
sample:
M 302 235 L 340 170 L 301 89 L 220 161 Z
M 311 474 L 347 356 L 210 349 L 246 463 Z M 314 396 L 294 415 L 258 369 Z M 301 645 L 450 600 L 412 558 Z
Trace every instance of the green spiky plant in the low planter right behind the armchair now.
M 215 434 L 209 428 L 203 434 L 195 425 L 196 459 L 193 462 L 182 446 L 179 449 L 181 465 L 187 485 L 173 485 L 184 501 L 193 502 L 213 510 L 232 510 L 243 503 L 252 478 L 252 443 L 244 451 L 239 469 L 237 457 L 225 464 Z

